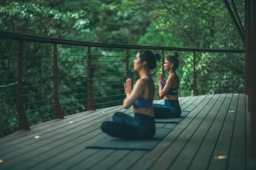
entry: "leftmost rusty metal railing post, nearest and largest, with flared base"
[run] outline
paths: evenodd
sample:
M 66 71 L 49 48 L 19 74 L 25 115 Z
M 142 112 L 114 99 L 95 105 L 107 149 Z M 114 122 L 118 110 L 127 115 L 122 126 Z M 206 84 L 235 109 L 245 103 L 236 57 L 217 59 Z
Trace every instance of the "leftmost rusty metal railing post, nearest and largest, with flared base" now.
M 22 103 L 22 41 L 18 40 L 18 87 L 17 87 L 17 111 L 18 111 L 18 130 L 30 130 L 27 115 Z

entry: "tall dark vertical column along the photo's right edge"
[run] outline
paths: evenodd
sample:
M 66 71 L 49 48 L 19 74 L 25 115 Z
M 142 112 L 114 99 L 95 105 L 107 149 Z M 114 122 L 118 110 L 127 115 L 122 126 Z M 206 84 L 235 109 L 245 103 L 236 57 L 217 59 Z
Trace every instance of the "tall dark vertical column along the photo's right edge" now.
M 251 149 L 250 155 L 252 159 L 256 159 L 256 0 L 247 1 L 248 22 L 249 22 L 249 96 L 251 103 Z

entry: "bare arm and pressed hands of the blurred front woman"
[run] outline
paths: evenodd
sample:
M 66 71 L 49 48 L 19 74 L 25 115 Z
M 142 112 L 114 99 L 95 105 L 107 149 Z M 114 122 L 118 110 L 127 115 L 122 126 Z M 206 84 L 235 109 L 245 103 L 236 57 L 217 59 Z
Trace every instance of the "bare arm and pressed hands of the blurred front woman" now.
M 131 107 L 133 105 L 133 103 L 135 102 L 135 100 L 139 98 L 139 96 L 141 95 L 141 93 L 144 90 L 145 84 L 146 84 L 145 79 L 139 79 L 134 84 L 133 90 L 131 90 L 132 82 L 130 81 L 130 79 L 126 80 L 126 83 L 124 84 L 126 98 L 123 100 L 123 107 L 125 109 Z

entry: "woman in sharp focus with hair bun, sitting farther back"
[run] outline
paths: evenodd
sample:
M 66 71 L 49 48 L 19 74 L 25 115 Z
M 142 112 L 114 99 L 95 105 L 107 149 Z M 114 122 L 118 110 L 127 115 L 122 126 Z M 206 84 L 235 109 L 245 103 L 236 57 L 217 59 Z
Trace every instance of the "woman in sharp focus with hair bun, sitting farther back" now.
M 159 85 L 159 96 L 164 98 L 165 104 L 154 104 L 155 118 L 178 118 L 181 116 L 181 107 L 178 100 L 179 77 L 176 69 L 179 66 L 179 54 L 177 52 L 165 59 L 164 70 L 168 71 L 169 76 L 157 77 Z

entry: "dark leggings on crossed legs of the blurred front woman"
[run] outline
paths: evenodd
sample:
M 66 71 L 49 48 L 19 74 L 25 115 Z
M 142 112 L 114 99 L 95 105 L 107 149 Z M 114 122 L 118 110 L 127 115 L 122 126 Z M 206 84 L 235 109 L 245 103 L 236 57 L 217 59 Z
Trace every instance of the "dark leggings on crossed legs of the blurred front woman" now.
M 113 121 L 101 124 L 101 130 L 112 137 L 123 139 L 151 139 L 155 135 L 154 118 L 134 113 L 134 117 L 126 113 L 116 112 Z

